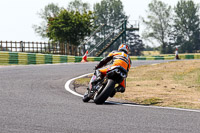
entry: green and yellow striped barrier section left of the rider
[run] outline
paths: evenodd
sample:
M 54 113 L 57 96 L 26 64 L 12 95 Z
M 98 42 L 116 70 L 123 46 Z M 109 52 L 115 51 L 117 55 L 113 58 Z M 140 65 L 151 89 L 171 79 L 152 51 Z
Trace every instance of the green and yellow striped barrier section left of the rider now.
M 88 61 L 100 61 L 102 57 L 88 57 Z M 81 56 L 35 54 L 0 51 L 0 65 L 56 64 L 81 62 Z

